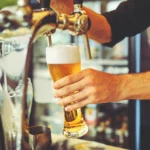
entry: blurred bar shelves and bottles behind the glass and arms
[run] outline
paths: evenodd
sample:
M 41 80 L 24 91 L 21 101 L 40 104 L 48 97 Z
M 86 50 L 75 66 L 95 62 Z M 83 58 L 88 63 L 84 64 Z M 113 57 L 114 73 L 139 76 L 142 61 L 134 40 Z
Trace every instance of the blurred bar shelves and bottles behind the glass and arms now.
M 83 4 L 97 13 L 115 9 L 122 0 L 84 0 Z M 36 0 L 31 1 L 34 9 L 39 8 Z M 0 9 L 5 6 L 16 5 L 14 0 L 5 0 L 0 3 Z M 141 34 L 125 38 L 114 47 L 106 47 L 90 40 L 92 60 L 85 54 L 83 37 L 73 37 L 66 31 L 57 30 L 52 35 L 52 43 L 76 43 L 80 47 L 82 69 L 94 68 L 113 74 L 133 73 L 137 70 L 137 53 L 140 54 L 140 71 L 149 69 L 149 28 Z M 65 37 L 65 38 L 64 38 Z M 24 40 L 24 39 L 22 39 Z M 30 125 L 47 125 L 52 133 L 61 134 L 63 128 L 62 108 L 56 104 L 53 96 L 53 82 L 50 77 L 46 59 L 46 37 L 40 37 L 33 44 L 33 58 L 31 64 L 31 78 L 34 87 L 34 99 L 31 110 Z M 138 50 L 137 50 L 138 48 Z M 9 77 L 8 77 L 9 79 Z M 10 87 L 12 81 L 9 82 Z M 97 141 L 108 145 L 123 148 L 136 147 L 136 133 L 141 129 L 141 143 L 147 138 L 150 121 L 146 115 L 149 102 L 120 101 L 117 103 L 87 105 L 82 109 L 84 118 L 89 127 L 87 135 L 82 139 Z M 138 119 L 136 118 L 138 116 Z M 140 138 L 140 137 L 139 137 Z M 131 143 L 132 141 L 132 143 Z

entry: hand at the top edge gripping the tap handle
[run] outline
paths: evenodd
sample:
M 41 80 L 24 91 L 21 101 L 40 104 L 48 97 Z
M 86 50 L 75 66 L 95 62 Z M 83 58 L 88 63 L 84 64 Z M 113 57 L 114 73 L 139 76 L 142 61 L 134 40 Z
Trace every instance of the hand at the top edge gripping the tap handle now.
M 57 13 L 70 14 L 73 11 L 73 0 L 51 0 L 50 6 Z

